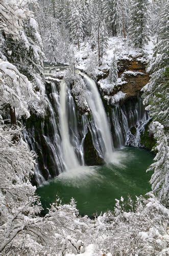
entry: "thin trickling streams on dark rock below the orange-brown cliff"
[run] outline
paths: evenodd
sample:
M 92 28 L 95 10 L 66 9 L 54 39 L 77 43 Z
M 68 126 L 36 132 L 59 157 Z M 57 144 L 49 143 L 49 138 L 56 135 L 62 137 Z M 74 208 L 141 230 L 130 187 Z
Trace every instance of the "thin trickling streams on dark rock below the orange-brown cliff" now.
M 113 124 L 113 140 L 115 147 L 123 145 L 142 146 L 140 134 L 144 132 L 144 126 L 149 122 L 148 113 L 144 110 L 142 99 L 130 102 L 127 106 L 116 104 L 112 108 L 111 122 Z M 134 130 L 132 133 L 131 130 Z

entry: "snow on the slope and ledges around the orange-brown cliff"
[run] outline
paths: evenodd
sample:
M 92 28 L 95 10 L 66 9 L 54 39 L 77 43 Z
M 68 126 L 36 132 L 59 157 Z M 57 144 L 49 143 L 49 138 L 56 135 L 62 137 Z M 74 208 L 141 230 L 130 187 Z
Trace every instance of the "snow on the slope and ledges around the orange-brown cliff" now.
M 89 42 L 82 42 L 80 51 L 75 48 L 75 59 L 76 59 L 76 68 L 86 72 L 89 76 L 96 79 L 96 77 L 102 77 L 104 72 L 110 69 L 112 59 L 115 55 L 116 60 L 120 59 L 128 59 L 132 60 L 132 58 L 136 58 L 138 61 L 147 62 L 149 58 L 152 57 L 153 46 L 154 46 L 154 38 L 149 42 L 148 45 L 145 45 L 143 50 L 133 48 L 129 45 L 129 41 L 122 37 L 110 37 L 108 39 L 108 48 L 106 54 L 104 54 L 102 59 L 102 65 L 98 66 L 98 52 L 97 50 L 92 51 Z M 136 76 L 136 75 L 144 75 L 141 72 L 133 72 L 126 71 L 125 74 Z M 115 86 L 120 86 L 124 83 L 127 83 L 123 80 L 123 77 L 118 78 L 116 83 L 110 83 L 109 78 L 100 79 L 98 84 L 100 86 L 100 91 L 103 95 L 106 95 L 106 100 L 109 103 L 117 102 L 124 98 L 124 94 L 119 92 L 118 95 L 114 95 L 114 98 L 107 97 L 110 95 Z M 111 98 L 111 99 L 110 99 Z

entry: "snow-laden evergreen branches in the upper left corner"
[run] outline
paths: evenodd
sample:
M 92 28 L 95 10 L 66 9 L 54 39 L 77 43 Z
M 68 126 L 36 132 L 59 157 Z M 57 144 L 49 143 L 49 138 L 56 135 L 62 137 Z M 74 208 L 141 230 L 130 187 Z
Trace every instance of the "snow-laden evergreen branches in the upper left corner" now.
M 8 19 L 9 24 L 7 23 L 6 26 L 3 23 L 2 26 L 2 56 L 3 60 L 9 61 L 15 66 L 15 73 L 27 76 L 31 82 L 29 82 L 28 91 L 30 91 L 30 87 L 33 90 L 31 101 L 28 98 L 29 106 L 32 111 L 42 115 L 44 114 L 42 41 L 33 13 L 28 8 L 31 2 L 36 4 L 36 1 L 17 1 L 16 3 L 8 3 L 7 1 L 3 3 L 4 13 L 8 15 L 4 14 L 3 18 L 4 20 Z M 10 24 L 10 20 L 12 20 L 13 25 Z M 10 29 L 7 30 L 7 27 Z

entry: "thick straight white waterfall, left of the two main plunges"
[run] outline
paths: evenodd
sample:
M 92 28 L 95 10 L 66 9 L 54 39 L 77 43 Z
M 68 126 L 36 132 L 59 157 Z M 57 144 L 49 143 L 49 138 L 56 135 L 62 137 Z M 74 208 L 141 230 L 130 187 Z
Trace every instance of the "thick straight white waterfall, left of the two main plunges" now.
M 75 154 L 74 147 L 70 143 L 66 99 L 67 99 L 67 86 L 65 81 L 62 80 L 60 83 L 60 113 L 59 113 L 60 130 L 61 130 L 62 151 L 63 151 L 64 162 L 66 165 L 66 170 L 70 170 L 73 168 L 78 168 L 80 164 Z

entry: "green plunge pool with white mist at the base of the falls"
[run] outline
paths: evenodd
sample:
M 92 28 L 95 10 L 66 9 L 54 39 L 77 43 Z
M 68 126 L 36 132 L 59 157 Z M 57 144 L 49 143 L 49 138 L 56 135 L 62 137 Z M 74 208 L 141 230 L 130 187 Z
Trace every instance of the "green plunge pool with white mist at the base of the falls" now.
M 153 162 L 153 154 L 136 147 L 124 147 L 112 156 L 112 163 L 104 166 L 83 166 L 66 172 L 37 188 L 43 214 L 56 199 L 69 203 L 73 197 L 80 215 L 92 216 L 112 210 L 115 199 L 144 195 L 151 189 L 152 173 L 146 169 Z

